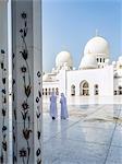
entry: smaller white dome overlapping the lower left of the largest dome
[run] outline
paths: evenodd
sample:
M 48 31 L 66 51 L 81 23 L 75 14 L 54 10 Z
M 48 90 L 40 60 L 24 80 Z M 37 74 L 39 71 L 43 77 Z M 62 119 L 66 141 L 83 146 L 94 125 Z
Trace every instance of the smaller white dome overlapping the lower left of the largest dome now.
M 80 69 L 96 69 L 98 68 L 96 57 L 86 55 L 82 58 Z

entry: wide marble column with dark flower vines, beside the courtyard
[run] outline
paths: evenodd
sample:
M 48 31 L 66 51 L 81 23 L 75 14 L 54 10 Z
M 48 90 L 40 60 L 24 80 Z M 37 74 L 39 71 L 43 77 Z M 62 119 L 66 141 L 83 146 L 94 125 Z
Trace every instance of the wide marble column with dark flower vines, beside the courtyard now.
M 41 164 L 41 3 L 12 1 L 13 163 Z

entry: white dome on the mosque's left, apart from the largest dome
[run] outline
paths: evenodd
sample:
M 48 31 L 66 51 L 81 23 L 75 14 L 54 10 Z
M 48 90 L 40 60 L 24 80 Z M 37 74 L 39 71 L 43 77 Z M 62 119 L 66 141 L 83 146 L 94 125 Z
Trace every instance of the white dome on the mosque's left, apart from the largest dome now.
M 60 68 L 66 63 L 68 67 L 73 67 L 71 54 L 69 51 L 61 51 L 57 55 L 56 67 Z

